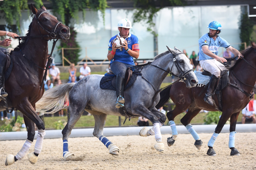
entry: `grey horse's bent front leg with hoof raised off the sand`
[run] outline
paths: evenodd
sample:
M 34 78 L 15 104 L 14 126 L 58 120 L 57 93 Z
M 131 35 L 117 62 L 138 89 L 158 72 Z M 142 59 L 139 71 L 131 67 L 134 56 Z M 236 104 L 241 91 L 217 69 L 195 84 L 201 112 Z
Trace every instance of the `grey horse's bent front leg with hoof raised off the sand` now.
M 162 112 L 160 112 L 159 110 L 157 110 L 155 107 L 150 109 L 150 111 L 157 117 L 159 118 L 159 127 L 162 127 L 164 125 L 164 122 L 166 120 L 166 116 L 165 114 L 163 114 Z M 154 127 L 152 127 L 151 129 L 148 129 L 148 127 L 143 127 L 141 130 L 140 130 L 140 133 L 139 133 L 140 136 L 143 136 L 143 137 L 147 137 L 147 136 L 150 136 L 150 135 L 155 135 L 155 132 L 154 132 Z

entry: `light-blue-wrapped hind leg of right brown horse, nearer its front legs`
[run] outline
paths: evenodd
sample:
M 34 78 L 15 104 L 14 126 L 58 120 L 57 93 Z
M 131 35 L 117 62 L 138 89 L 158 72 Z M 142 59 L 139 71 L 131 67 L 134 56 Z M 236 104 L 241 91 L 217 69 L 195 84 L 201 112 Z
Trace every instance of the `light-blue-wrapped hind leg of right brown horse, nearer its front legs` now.
M 188 112 L 186 113 L 186 115 L 184 117 L 182 117 L 182 119 L 180 120 L 180 122 L 186 127 L 186 129 L 188 130 L 188 132 L 193 136 L 193 138 L 196 140 L 195 141 L 195 146 L 197 149 L 201 149 L 201 146 L 203 145 L 203 142 L 200 140 L 199 135 L 196 133 L 196 131 L 194 130 L 194 128 L 192 127 L 192 125 L 190 124 L 190 121 L 201 111 L 201 109 L 198 108 L 189 108 Z

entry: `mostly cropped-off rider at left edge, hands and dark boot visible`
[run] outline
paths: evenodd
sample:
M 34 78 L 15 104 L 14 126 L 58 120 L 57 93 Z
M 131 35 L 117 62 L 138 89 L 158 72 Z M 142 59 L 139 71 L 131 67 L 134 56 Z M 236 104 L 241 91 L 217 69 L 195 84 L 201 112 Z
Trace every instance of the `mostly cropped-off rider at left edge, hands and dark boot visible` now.
M 9 37 L 19 37 L 19 35 L 9 32 L 9 31 L 0 31 L 0 36 L 9 36 Z M 10 46 L 12 40 L 11 39 L 4 39 L 3 41 L 0 41 L 0 46 Z M 5 56 L 5 50 L 6 48 L 0 47 L 0 89 L 3 87 L 4 84 L 4 71 L 5 71 L 5 62 L 6 62 L 6 56 Z M 3 89 L 1 89 L 0 92 L 0 99 L 3 99 L 2 97 L 7 97 L 8 94 L 4 92 Z

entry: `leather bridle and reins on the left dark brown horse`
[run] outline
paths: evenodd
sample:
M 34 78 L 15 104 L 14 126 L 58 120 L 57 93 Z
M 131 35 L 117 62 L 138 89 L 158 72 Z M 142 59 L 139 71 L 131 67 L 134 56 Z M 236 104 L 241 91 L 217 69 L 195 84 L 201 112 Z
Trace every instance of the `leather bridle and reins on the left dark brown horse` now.
M 21 39 L 28 39 L 28 38 L 41 38 L 41 39 L 43 39 L 43 38 L 50 38 L 49 40 L 52 40 L 52 39 L 53 39 L 52 51 L 51 51 L 50 56 L 48 57 L 48 62 L 47 62 L 47 65 L 45 66 L 46 68 L 42 68 L 42 67 L 38 66 L 34 61 L 29 60 L 29 59 L 25 56 L 25 54 L 22 53 L 22 50 L 20 49 L 20 52 L 22 53 L 22 56 L 23 56 L 23 57 L 25 57 L 28 61 L 30 61 L 31 63 L 33 63 L 36 67 L 45 70 L 45 72 L 44 72 L 44 77 L 43 77 L 43 80 L 42 80 L 42 83 L 41 83 L 41 86 L 40 86 L 40 90 L 42 89 L 42 86 L 43 86 L 43 84 L 44 84 L 44 81 L 46 80 L 47 70 L 48 70 L 49 66 L 51 65 L 51 63 L 52 63 L 52 52 L 53 52 L 53 50 L 54 50 L 54 47 L 55 47 L 55 45 L 56 45 L 56 42 L 57 42 L 58 39 L 59 39 L 59 35 L 58 35 L 55 31 L 56 31 L 57 26 L 58 26 L 59 24 L 61 24 L 61 22 L 58 22 L 58 23 L 55 25 L 54 31 L 52 32 L 51 30 L 49 30 L 48 28 L 46 28 L 46 27 L 38 20 L 39 17 L 40 17 L 43 13 L 48 13 L 48 14 L 50 14 L 50 12 L 48 12 L 48 11 L 42 11 L 42 12 L 39 14 L 38 17 L 36 17 L 36 15 L 35 15 L 35 17 L 34 17 L 34 18 L 36 18 L 36 20 L 37 20 L 38 30 L 39 30 L 39 32 L 40 32 L 40 35 L 39 35 L 39 36 L 14 37 L 14 38 L 19 39 L 19 45 L 20 45 L 20 40 L 21 40 Z M 48 32 L 49 34 L 47 34 L 47 35 L 42 35 L 39 26 L 40 26 L 41 28 L 43 28 L 43 30 L 45 30 L 46 32 Z M 55 39 L 56 39 L 56 40 L 55 40 Z M 49 40 L 45 40 L 45 41 L 49 41 Z

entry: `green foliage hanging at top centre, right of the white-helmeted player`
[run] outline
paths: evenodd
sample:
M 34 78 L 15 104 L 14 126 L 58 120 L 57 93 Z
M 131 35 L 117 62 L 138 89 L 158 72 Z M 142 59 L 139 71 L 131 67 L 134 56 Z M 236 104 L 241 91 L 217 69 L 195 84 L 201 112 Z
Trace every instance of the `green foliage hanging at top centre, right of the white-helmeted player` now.
M 148 24 L 148 31 L 154 36 L 157 36 L 156 23 L 153 18 L 156 17 L 156 13 L 162 8 L 167 6 L 184 6 L 185 0 L 133 0 L 136 11 L 133 14 L 133 21 L 140 22 L 146 21 Z

